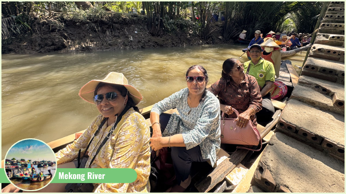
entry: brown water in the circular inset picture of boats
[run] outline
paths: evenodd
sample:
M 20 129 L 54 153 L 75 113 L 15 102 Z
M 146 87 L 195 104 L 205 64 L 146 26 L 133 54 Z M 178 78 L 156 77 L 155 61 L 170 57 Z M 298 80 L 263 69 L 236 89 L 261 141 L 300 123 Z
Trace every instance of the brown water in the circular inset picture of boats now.
M 55 175 L 56 166 L 48 166 L 46 168 L 37 168 L 37 165 L 35 165 L 34 167 L 36 169 L 36 172 L 38 172 L 38 173 L 42 171 L 43 174 L 49 174 L 48 170 L 50 169 L 53 176 Z M 47 185 L 49 182 L 52 181 L 52 179 L 53 179 L 53 177 L 50 178 L 49 180 L 37 182 L 37 183 L 35 183 L 35 182 L 31 183 L 30 181 L 22 181 L 20 179 L 13 179 L 10 181 L 13 184 L 15 184 L 17 187 L 22 188 L 24 190 L 36 190 L 36 189 L 42 188 L 45 185 Z

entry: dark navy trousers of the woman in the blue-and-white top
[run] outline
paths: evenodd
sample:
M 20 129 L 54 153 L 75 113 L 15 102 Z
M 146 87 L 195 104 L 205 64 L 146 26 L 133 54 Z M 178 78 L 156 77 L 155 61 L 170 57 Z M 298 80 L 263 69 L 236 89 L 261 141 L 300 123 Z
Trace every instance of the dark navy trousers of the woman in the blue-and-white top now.
M 165 130 L 171 114 L 162 113 L 160 115 L 161 133 Z M 171 147 L 171 156 L 176 176 L 177 184 L 185 181 L 189 177 L 192 162 L 206 162 L 209 159 L 203 159 L 201 148 L 199 146 L 191 149 L 186 147 Z

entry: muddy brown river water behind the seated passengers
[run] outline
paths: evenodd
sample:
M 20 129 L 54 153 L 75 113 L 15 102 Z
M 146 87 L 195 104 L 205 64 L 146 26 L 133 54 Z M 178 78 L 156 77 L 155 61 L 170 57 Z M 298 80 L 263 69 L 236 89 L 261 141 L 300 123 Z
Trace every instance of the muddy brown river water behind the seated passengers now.
M 238 58 L 246 46 L 2 55 L 2 158 L 18 140 L 36 138 L 47 143 L 86 129 L 98 110 L 78 92 L 92 79 L 122 72 L 144 97 L 138 105 L 144 108 L 186 87 L 185 72 L 192 65 L 206 68 L 209 84 L 214 83 L 221 77 L 222 63 Z M 305 55 L 302 51 L 285 59 L 299 74 Z M 238 59 L 248 61 L 246 54 Z

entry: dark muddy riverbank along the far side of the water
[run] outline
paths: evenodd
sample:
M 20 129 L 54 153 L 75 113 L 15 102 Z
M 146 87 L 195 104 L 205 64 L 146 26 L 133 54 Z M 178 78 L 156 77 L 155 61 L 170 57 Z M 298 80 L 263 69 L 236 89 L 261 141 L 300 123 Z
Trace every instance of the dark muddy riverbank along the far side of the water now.
M 179 47 L 205 44 L 233 43 L 221 37 L 221 23 L 208 40 L 194 35 L 191 28 L 171 34 L 152 36 L 147 28 L 146 16 L 108 13 L 102 19 L 76 21 L 63 15 L 31 23 L 31 31 L 2 41 L 2 54 L 34 54 L 52 51 L 105 51 L 139 48 Z

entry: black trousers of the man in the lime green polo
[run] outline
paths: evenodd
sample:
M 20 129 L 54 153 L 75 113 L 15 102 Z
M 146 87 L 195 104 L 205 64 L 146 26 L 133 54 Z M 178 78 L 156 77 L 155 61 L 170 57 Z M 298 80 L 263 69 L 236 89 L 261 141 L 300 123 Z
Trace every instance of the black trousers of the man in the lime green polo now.
M 257 123 L 266 126 L 268 123 L 270 123 L 273 118 L 272 116 L 275 113 L 273 103 L 271 101 L 272 97 L 270 93 L 262 97 L 262 110 L 260 110 L 258 113 L 256 113 L 257 117 Z

